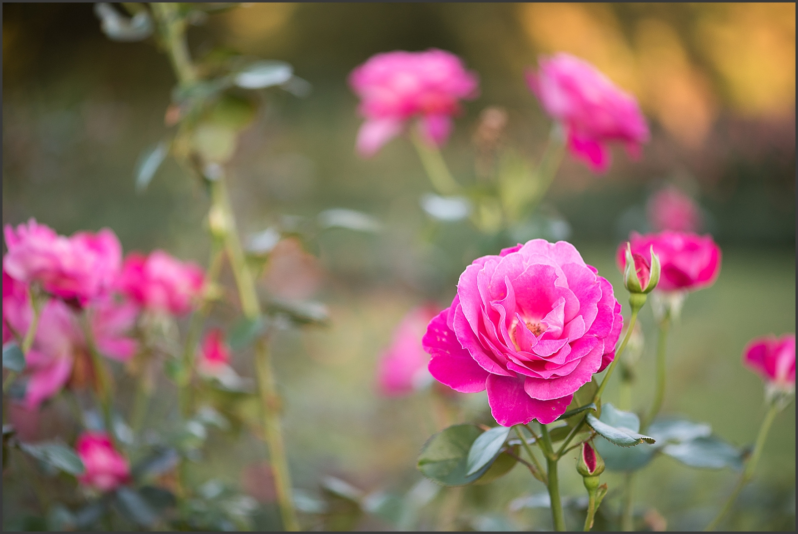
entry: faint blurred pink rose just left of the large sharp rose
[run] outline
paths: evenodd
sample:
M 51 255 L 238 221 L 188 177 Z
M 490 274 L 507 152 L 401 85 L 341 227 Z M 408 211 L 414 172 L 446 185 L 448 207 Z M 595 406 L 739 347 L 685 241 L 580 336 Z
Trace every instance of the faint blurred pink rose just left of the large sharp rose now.
M 381 355 L 377 365 L 380 393 L 389 397 L 412 393 L 429 377 L 429 355 L 421 346 L 421 338 L 440 307 L 425 304 L 405 315 L 393 331 L 393 342 Z

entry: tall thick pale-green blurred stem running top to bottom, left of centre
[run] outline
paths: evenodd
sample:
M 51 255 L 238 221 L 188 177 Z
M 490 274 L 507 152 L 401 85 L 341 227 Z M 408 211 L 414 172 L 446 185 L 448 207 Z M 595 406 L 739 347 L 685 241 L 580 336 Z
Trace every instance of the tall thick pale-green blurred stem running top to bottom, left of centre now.
M 152 7 L 157 18 L 160 19 L 161 32 L 179 83 L 182 86 L 191 85 L 197 80 L 196 69 L 188 53 L 185 22 L 179 18 L 176 4 L 155 3 L 152 4 Z M 255 281 L 247 266 L 241 241 L 235 228 L 235 219 L 232 216 L 223 176 L 219 176 L 211 182 L 211 204 L 211 209 L 215 208 L 223 215 L 224 247 L 235 275 L 243 314 L 247 318 L 258 318 L 261 310 L 255 291 Z M 290 473 L 282 445 L 282 430 L 277 412 L 279 398 L 275 393 L 275 381 L 271 373 L 267 342 L 263 338 L 255 345 L 255 371 L 263 404 L 263 430 L 269 448 L 271 465 L 275 469 L 275 490 L 282 515 L 282 526 L 286 530 L 296 531 L 299 529 L 299 525 L 296 512 L 294 512 Z

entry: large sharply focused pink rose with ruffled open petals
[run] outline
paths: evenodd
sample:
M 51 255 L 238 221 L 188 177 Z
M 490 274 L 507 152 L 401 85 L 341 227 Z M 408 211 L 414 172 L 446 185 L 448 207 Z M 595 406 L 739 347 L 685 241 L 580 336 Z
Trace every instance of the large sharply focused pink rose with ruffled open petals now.
M 429 323 L 429 372 L 461 393 L 487 389 L 500 425 L 555 421 L 615 356 L 621 305 L 597 272 L 545 239 L 474 260 Z

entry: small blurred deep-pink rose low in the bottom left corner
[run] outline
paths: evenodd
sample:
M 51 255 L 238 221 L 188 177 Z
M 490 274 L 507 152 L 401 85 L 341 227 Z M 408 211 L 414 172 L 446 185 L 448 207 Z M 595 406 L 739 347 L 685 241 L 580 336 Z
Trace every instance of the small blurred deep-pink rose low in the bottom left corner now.
M 116 449 L 107 433 L 84 432 L 75 443 L 85 472 L 77 480 L 90 488 L 109 492 L 130 480 L 130 465 Z

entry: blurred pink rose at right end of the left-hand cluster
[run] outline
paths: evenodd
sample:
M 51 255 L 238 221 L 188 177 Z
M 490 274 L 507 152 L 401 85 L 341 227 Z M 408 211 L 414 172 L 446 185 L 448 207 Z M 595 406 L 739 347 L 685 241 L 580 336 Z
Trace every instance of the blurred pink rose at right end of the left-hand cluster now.
M 148 256 L 132 253 L 124 259 L 118 286 L 133 302 L 149 311 L 187 314 L 205 283 L 203 270 L 180 262 L 164 251 Z

